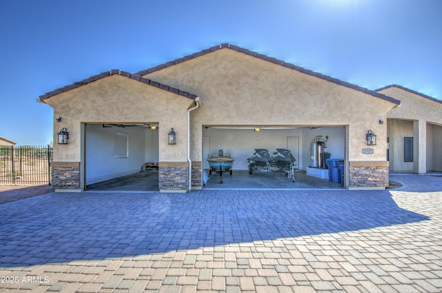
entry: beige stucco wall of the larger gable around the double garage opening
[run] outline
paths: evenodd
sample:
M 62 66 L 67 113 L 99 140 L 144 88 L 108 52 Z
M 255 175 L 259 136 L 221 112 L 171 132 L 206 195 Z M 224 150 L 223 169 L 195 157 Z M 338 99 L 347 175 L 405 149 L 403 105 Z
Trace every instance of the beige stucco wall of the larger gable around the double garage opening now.
M 198 94 L 191 158 L 202 160 L 202 125 L 349 125 L 349 161 L 385 161 L 387 111 L 395 105 L 227 48 L 144 77 Z M 372 130 L 374 154 L 365 134 Z

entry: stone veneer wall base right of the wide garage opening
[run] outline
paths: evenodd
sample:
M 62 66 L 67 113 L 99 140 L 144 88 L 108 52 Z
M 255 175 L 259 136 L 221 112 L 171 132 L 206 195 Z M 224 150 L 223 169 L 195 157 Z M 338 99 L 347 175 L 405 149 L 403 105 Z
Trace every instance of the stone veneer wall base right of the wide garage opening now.
M 387 188 L 388 166 L 388 161 L 350 161 L 349 189 Z

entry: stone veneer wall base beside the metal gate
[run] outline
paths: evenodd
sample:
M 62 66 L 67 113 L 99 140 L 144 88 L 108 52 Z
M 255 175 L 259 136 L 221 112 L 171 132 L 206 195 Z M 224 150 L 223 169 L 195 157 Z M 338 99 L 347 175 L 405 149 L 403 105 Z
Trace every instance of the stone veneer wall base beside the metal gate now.
M 79 162 L 52 162 L 51 184 L 57 191 L 79 191 L 80 163 Z

